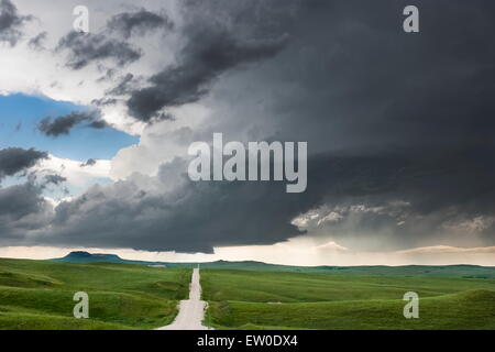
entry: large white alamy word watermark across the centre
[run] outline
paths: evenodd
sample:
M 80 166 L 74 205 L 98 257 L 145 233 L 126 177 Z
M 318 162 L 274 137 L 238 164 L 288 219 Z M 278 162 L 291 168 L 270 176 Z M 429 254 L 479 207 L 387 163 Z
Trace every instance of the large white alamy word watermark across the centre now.
M 302 193 L 307 187 L 307 142 L 297 142 L 296 156 L 295 142 L 249 142 L 246 150 L 241 142 L 223 145 L 222 133 L 213 133 L 212 151 L 208 143 L 195 142 L 188 154 L 197 156 L 188 167 L 194 182 L 286 180 L 286 191 L 290 194 Z

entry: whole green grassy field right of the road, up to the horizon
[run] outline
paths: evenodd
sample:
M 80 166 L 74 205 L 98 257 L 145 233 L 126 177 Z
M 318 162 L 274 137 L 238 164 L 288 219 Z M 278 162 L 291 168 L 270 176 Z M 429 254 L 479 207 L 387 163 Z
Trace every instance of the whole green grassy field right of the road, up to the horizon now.
M 482 274 L 480 274 L 482 273 Z M 324 274 L 202 270 L 217 329 L 495 329 L 495 268 L 356 267 Z M 402 298 L 419 297 L 419 319 Z

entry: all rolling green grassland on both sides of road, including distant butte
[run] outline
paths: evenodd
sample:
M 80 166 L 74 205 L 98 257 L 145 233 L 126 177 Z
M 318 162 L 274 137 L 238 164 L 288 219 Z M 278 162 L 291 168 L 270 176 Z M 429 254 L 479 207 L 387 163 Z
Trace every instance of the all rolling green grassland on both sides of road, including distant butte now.
M 150 265 L 165 264 L 166 267 Z M 0 258 L 0 329 L 152 329 L 172 322 L 198 263 L 73 252 Z M 201 263 L 206 323 L 218 329 L 495 329 L 495 267 Z M 73 296 L 89 294 L 89 319 Z M 420 297 L 405 319 L 403 296 Z

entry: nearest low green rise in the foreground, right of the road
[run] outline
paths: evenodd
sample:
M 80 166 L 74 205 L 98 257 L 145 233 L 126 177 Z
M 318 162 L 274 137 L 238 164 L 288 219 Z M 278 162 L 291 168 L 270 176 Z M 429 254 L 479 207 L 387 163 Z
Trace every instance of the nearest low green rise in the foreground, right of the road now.
M 211 302 L 218 329 L 495 329 L 495 292 L 470 290 L 420 300 L 419 319 L 405 319 L 400 299 L 295 304 Z

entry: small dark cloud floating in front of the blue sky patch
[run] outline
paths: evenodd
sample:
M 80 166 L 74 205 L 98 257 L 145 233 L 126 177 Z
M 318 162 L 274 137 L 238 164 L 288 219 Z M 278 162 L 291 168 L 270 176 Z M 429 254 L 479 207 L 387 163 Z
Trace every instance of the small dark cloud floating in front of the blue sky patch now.
M 74 111 L 66 116 L 56 118 L 44 118 L 37 125 L 37 129 L 48 136 L 59 136 L 69 134 L 70 130 L 80 123 L 87 123 L 91 129 L 108 128 L 107 122 L 100 119 L 99 112 L 96 111 Z

